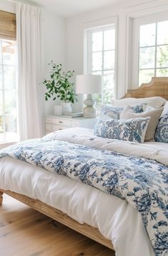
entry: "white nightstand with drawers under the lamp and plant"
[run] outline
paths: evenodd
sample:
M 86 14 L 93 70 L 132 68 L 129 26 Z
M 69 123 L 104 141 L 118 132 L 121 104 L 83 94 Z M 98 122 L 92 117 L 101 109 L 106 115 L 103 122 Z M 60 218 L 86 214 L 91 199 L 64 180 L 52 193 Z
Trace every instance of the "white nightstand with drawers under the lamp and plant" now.
M 46 134 L 70 127 L 94 128 L 97 118 L 66 118 L 64 116 L 46 116 Z

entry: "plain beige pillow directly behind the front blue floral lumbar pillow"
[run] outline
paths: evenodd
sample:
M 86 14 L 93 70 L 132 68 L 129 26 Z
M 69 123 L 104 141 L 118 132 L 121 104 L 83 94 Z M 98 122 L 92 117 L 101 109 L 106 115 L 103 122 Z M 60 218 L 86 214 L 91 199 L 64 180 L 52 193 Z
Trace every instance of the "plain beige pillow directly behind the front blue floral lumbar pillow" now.
M 157 108 L 154 110 L 145 111 L 143 113 L 134 113 L 134 110 L 130 106 L 127 106 L 121 113 L 120 119 L 129 118 L 147 118 L 150 117 L 149 125 L 147 127 L 147 133 L 144 141 L 154 141 L 154 133 L 159 122 L 159 117 L 162 114 L 163 108 Z

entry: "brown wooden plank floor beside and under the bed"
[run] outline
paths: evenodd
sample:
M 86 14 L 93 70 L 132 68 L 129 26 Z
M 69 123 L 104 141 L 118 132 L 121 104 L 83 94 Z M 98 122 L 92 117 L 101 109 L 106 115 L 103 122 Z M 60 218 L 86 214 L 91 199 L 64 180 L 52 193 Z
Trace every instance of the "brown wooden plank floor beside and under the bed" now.
M 114 256 L 112 250 L 4 195 L 1 256 Z

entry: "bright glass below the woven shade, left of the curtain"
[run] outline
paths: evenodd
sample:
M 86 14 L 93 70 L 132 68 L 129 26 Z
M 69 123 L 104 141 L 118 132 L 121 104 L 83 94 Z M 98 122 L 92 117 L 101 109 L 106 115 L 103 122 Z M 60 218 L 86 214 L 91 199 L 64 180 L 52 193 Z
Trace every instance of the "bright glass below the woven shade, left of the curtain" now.
M 16 141 L 15 41 L 0 39 L 0 141 Z

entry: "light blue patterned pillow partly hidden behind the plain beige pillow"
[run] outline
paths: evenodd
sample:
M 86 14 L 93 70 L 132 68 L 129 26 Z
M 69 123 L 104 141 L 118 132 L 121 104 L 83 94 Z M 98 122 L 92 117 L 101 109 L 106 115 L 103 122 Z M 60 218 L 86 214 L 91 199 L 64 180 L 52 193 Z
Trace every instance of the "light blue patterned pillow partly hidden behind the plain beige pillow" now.
M 116 107 L 112 105 L 104 105 L 102 106 L 102 114 L 103 115 L 109 115 L 110 118 L 119 119 L 119 114 L 124 110 L 125 107 Z M 134 110 L 134 113 L 142 113 L 147 108 L 146 103 L 138 104 L 138 105 L 132 105 L 132 110 Z

